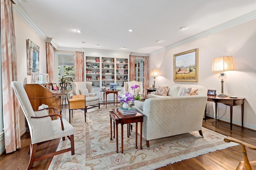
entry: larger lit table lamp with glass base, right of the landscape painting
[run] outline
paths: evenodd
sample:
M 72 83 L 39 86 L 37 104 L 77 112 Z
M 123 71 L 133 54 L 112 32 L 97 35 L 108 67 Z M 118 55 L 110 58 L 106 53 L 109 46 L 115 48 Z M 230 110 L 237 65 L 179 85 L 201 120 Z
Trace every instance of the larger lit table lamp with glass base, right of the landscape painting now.
M 219 94 L 218 97 L 227 97 L 227 95 L 223 93 L 223 83 L 226 79 L 226 74 L 223 71 L 228 70 L 235 70 L 234 60 L 232 56 L 217 57 L 213 59 L 212 71 L 222 71 L 219 76 L 219 79 L 221 80 L 221 94 Z

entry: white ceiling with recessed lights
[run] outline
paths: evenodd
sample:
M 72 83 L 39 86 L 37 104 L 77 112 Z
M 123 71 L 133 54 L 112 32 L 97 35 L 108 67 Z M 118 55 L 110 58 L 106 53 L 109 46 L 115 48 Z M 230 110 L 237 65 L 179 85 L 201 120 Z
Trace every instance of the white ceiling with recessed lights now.
M 211 30 L 239 24 L 239 18 L 240 23 L 244 18 L 256 18 L 256 0 L 14 2 L 14 10 L 22 19 L 29 18 L 29 25 L 32 21 L 41 36 L 53 38 L 54 47 L 62 50 L 90 48 L 150 54 Z M 82 32 L 76 32 L 78 29 Z

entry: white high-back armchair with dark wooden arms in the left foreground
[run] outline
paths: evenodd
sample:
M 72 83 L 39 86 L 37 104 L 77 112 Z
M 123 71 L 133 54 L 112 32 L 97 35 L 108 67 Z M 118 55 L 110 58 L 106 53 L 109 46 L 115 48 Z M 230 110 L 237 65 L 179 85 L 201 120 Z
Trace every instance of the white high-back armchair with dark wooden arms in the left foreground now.
M 56 154 L 71 151 L 71 155 L 74 155 L 74 127 L 70 125 L 68 121 L 62 119 L 62 115 L 60 114 L 49 115 L 47 109 L 54 109 L 53 107 L 34 111 L 22 84 L 20 84 L 19 82 L 12 82 L 11 84 L 18 98 L 18 101 L 20 102 L 20 106 L 25 114 L 30 131 L 31 143 L 29 151 L 30 161 L 28 164 L 28 169 L 32 168 L 34 161 L 52 157 Z M 52 120 L 51 117 L 58 117 L 58 119 Z M 38 143 L 50 141 L 52 139 L 58 139 L 61 137 L 62 140 L 65 140 L 65 137 L 68 137 L 71 144 L 70 148 L 35 157 L 36 147 Z

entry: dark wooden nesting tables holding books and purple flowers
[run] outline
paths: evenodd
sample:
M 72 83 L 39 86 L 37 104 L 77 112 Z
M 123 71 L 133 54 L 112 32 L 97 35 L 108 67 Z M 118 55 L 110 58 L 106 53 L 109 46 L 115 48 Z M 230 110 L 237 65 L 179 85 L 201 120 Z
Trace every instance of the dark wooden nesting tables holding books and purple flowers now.
M 112 117 L 112 119 L 115 119 L 115 123 L 116 123 L 116 138 L 118 138 L 117 136 L 117 131 L 118 131 L 118 124 L 121 124 L 121 145 L 122 145 L 122 150 L 121 153 L 124 153 L 124 124 L 129 124 L 129 123 L 136 123 L 136 149 L 138 149 L 137 143 L 138 143 L 138 122 L 140 122 L 140 149 L 143 149 L 142 147 L 142 123 L 143 123 L 143 117 L 144 115 L 141 113 L 136 113 L 136 115 L 134 116 L 123 116 L 122 113 L 119 113 L 118 108 L 114 108 L 113 109 L 114 114 L 119 118 L 119 121 L 116 120 L 116 117 Z M 110 121 L 111 121 L 111 114 L 113 113 L 112 111 L 110 111 Z M 112 122 L 112 121 L 111 121 Z M 117 123 L 118 122 L 118 123 Z M 111 126 L 111 130 L 112 131 L 112 123 L 110 123 Z M 128 129 L 128 126 L 127 126 Z M 127 132 L 128 133 L 128 132 Z M 128 134 L 127 134 L 128 135 Z M 112 136 L 112 134 L 111 134 Z M 111 139 L 111 138 L 110 138 Z M 118 139 L 116 139 L 116 151 L 118 152 Z

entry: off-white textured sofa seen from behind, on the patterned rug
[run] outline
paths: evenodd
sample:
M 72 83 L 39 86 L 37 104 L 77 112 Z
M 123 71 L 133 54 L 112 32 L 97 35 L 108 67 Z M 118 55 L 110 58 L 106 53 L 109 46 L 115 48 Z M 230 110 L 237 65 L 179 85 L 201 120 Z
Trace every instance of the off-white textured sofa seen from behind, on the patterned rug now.
M 182 84 L 181 86 L 198 87 L 198 94 L 195 96 L 173 97 L 154 94 L 148 95 L 152 97 L 144 102 L 134 102 L 133 108 L 144 115 L 142 137 L 146 139 L 148 149 L 150 148 L 149 140 L 152 139 L 192 131 L 199 131 L 203 137 L 202 120 L 207 102 L 207 89 L 198 85 Z M 177 89 L 171 92 L 171 95 L 174 95 L 175 91 Z M 140 125 L 138 125 L 138 128 L 140 128 Z

